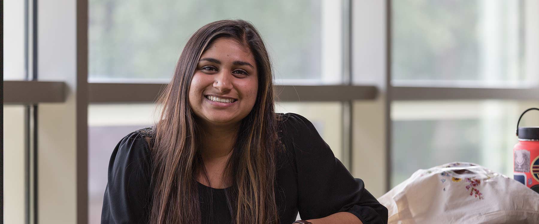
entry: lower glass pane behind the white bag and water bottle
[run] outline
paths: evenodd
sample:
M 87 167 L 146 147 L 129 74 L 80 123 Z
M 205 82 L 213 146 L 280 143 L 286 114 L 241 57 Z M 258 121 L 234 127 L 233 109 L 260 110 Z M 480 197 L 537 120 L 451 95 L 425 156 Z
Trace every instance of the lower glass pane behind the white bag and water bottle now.
M 472 162 L 513 176 L 513 147 L 520 114 L 539 102 L 393 102 L 391 186 L 418 169 L 449 162 Z M 539 125 L 539 113 L 521 126 Z

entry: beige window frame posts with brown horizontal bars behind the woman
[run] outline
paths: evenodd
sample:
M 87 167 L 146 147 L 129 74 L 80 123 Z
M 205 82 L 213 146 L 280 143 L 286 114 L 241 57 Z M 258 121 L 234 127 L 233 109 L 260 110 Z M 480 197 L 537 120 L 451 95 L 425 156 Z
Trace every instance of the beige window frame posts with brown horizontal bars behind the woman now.
M 343 84 L 341 85 L 277 85 L 280 100 L 284 102 L 338 101 L 343 103 L 343 147 L 342 161 L 356 177 L 369 183 L 369 189 L 376 197 L 387 192 L 391 176 L 391 103 L 397 100 L 452 100 L 452 99 L 510 99 L 539 100 L 539 86 L 522 88 L 474 88 L 429 85 L 399 85 L 391 82 L 391 0 L 385 1 L 343 1 Z M 526 4 L 539 6 L 533 0 Z M 32 41 L 32 81 L 3 81 L 4 103 L 31 104 L 36 116 L 34 149 L 37 157 L 35 173 L 43 168 L 37 158 L 43 156 L 37 148 L 58 148 L 57 154 L 71 155 L 67 164 L 58 164 L 59 173 L 44 171 L 36 176 L 35 220 L 45 221 L 51 216 L 66 216 L 65 220 L 77 223 L 88 222 L 88 125 L 87 107 L 93 103 L 154 102 L 155 96 L 163 88 L 159 83 L 89 83 L 88 82 L 88 0 L 77 2 L 53 0 L 53 4 L 43 4 L 37 8 L 34 3 Z M 55 8 L 54 5 L 64 5 Z M 526 20 L 539 21 L 533 9 L 526 7 Z M 47 16 L 54 12 L 55 16 Z M 537 13 L 535 13 L 537 14 Z M 530 16 L 531 15 L 531 16 Z M 39 29 L 37 17 L 42 24 Z M 71 19 L 71 22 L 70 22 Z M 57 23 L 56 29 L 42 28 Z M 526 23 L 526 30 L 534 23 Z M 365 35 L 368 33 L 369 35 Z M 526 33 L 526 46 L 539 48 L 539 31 Z M 38 39 L 39 37 L 39 39 Z M 60 50 L 45 47 L 45 42 L 59 38 L 54 44 Z M 39 40 L 39 42 L 38 42 Z M 69 50 L 71 48 L 71 51 Z M 538 58 L 539 51 L 528 50 L 526 58 Z M 47 59 L 53 57 L 53 59 Z M 46 70 L 39 63 L 54 62 L 53 66 L 66 68 L 65 71 Z M 65 66 L 65 67 L 64 67 Z M 539 66 L 530 65 L 528 72 L 539 74 Z M 38 76 L 39 75 L 39 76 Z M 118 94 L 118 90 L 122 95 Z M 331 92 L 331 95 L 322 93 Z M 112 94 L 115 93 L 115 94 Z M 39 110 L 38 110 L 39 108 Z M 66 121 L 74 125 L 60 125 L 46 122 L 56 118 L 56 114 L 66 116 Z M 70 124 L 71 124 L 70 123 Z M 39 125 L 38 125 L 39 124 Z M 59 128 L 60 127 L 60 128 Z M 367 134 L 368 133 L 368 134 Z M 40 136 L 37 139 L 37 136 Z M 72 138 L 66 143 L 55 143 Z M 62 151 L 63 150 L 63 151 Z M 49 152 L 50 153 L 50 152 Z M 380 165 L 384 164 L 384 165 Z M 51 165 L 51 164 L 49 164 Z M 372 169 L 376 167 L 379 169 Z M 72 169 L 71 171 L 69 171 Z M 73 171 L 74 170 L 74 171 Z M 57 209 L 45 209 L 43 201 L 50 200 L 43 192 L 51 190 L 50 184 L 37 185 L 37 180 L 56 178 L 55 175 L 70 176 L 73 183 L 63 190 L 53 190 L 51 197 L 60 193 L 72 193 L 74 200 Z M 41 182 L 40 182 L 41 183 Z M 43 200 L 37 200 L 37 193 Z M 63 209 L 65 208 L 65 209 Z M 38 212 L 39 211 L 39 212 Z M 66 212 L 67 211 L 67 212 Z M 39 214 L 39 216 L 38 216 Z

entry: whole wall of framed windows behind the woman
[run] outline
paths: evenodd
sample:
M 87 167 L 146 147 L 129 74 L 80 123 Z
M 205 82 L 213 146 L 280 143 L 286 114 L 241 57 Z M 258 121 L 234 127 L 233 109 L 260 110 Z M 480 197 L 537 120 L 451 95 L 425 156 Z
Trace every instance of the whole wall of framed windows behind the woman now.
M 33 2 L 5 4 L 4 116 L 12 132 L 4 147 L 26 144 L 27 153 L 5 154 L 12 161 L 4 165 L 19 167 L 4 178 L 26 175 L 5 185 L 6 205 L 20 200 L 23 180 L 37 187 L 24 190 L 26 211 L 15 211 L 17 201 L 5 213 L 14 223 L 98 222 L 110 151 L 151 125 L 153 100 L 187 38 L 218 19 L 259 28 L 275 66 L 277 111 L 311 120 L 375 197 L 449 160 L 508 174 L 516 116 L 539 101 L 535 0 L 54 0 L 39 12 L 28 10 Z M 532 115 L 524 124 L 538 123 Z M 22 156 L 29 162 L 20 172 L 10 162 Z

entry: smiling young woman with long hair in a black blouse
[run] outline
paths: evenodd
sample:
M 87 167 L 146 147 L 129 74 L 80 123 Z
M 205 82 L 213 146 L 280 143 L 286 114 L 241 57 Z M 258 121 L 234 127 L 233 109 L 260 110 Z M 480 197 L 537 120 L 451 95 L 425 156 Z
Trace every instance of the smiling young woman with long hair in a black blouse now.
M 101 223 L 386 223 L 309 120 L 274 112 L 271 68 L 247 21 L 195 32 L 160 119 L 114 148 Z

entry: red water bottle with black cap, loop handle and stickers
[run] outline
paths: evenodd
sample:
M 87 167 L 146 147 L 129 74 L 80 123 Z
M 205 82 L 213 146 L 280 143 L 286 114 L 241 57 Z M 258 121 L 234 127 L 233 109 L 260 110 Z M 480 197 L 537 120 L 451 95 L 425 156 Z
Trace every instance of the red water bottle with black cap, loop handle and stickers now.
M 513 148 L 513 178 L 539 193 L 539 127 L 519 127 L 524 111 L 516 124 L 519 143 Z

